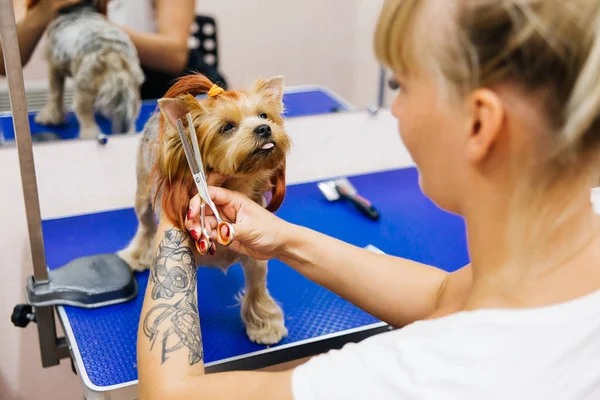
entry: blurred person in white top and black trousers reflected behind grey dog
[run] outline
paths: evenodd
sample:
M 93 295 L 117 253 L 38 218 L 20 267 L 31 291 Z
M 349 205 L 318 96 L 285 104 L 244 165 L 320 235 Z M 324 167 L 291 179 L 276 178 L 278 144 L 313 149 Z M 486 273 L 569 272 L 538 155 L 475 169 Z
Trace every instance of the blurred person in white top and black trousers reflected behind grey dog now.
M 30 61 L 50 21 L 64 7 L 82 0 L 41 0 L 27 12 L 25 0 L 15 2 L 17 35 L 23 66 Z M 190 50 L 188 41 L 196 15 L 195 0 L 107 0 L 107 18 L 123 29 L 137 48 L 146 75 L 142 99 L 162 97 L 173 81 L 188 71 L 205 74 L 226 86 L 223 76 Z M 5 75 L 0 50 L 0 74 Z

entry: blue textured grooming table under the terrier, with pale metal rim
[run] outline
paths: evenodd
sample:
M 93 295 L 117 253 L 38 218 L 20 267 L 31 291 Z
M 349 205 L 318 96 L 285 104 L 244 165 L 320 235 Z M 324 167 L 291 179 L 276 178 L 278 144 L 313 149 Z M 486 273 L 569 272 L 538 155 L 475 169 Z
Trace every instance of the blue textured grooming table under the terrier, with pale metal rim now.
M 414 168 L 350 177 L 380 210 L 365 218 L 348 202 L 327 202 L 316 183 L 292 185 L 278 215 L 357 246 L 380 250 L 454 271 L 469 262 L 463 220 L 435 206 L 421 192 Z M 73 258 L 115 252 L 133 237 L 133 209 L 43 222 L 49 267 Z M 377 265 L 366 266 L 377 273 Z M 85 395 L 91 399 L 137 398 L 136 338 L 148 272 L 136 273 L 139 295 L 101 309 L 58 307 Z M 277 260 L 269 264 L 268 287 L 285 313 L 289 336 L 266 347 L 247 338 L 234 296 L 242 288 L 239 266 L 227 275 L 198 271 L 198 303 L 208 372 L 261 368 L 389 329 L 386 324 Z M 110 397 L 106 396 L 110 394 Z

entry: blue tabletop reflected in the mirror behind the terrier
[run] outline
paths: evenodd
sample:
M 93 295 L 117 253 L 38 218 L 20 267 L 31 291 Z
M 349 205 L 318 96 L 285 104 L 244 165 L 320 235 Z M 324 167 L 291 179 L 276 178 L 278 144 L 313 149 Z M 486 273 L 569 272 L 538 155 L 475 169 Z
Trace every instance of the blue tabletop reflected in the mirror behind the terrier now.
M 344 99 L 337 96 L 327 88 L 320 86 L 292 86 L 286 88 L 283 102 L 286 107 L 286 117 L 300 117 L 307 115 L 327 114 L 331 112 L 348 111 L 352 106 Z M 136 131 L 140 132 L 151 114 L 156 110 L 157 101 L 147 100 L 142 102 L 140 114 L 136 120 Z M 66 112 L 66 122 L 61 126 L 44 126 L 34 121 L 37 112 L 29 113 L 29 124 L 31 134 L 37 135 L 45 132 L 53 133 L 61 139 L 75 139 L 79 137 L 79 123 L 72 111 Z M 96 121 L 102 132 L 111 134 L 111 122 L 100 116 L 96 116 Z M 0 114 L 0 138 L 4 137 L 6 141 L 15 139 L 11 113 Z

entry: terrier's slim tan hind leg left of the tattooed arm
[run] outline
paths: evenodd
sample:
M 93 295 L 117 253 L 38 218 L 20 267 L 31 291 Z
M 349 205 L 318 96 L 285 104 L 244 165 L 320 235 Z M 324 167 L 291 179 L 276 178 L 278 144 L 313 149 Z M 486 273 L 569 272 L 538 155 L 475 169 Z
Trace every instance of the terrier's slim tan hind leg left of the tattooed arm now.
M 138 153 L 137 166 L 137 191 L 135 194 L 135 214 L 138 218 L 138 227 L 135 236 L 127 248 L 117 253 L 125 260 L 131 269 L 143 271 L 152 264 L 152 243 L 156 234 L 156 222 L 152 211 L 151 193 L 148 190 L 148 172 L 144 170 L 142 147 Z

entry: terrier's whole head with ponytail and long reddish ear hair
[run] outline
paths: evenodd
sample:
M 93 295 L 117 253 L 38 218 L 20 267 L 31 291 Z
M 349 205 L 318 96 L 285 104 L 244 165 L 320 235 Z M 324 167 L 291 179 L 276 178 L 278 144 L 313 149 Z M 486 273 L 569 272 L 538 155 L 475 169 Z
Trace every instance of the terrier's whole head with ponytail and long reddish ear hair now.
M 197 192 L 176 128 L 178 119 L 187 125 L 188 113 L 207 172 L 241 178 L 253 192 L 247 195 L 270 189 L 272 197 L 266 208 L 272 212 L 279 209 L 286 193 L 290 138 L 281 116 L 283 77 L 259 79 L 248 91 L 213 89 L 205 76 L 190 74 L 180 78 L 158 102 L 162 117 L 152 181 L 156 193 L 162 192 L 165 217 L 179 229 L 185 229 L 189 200 Z M 214 95 L 196 100 L 194 96 L 201 93 Z

